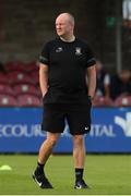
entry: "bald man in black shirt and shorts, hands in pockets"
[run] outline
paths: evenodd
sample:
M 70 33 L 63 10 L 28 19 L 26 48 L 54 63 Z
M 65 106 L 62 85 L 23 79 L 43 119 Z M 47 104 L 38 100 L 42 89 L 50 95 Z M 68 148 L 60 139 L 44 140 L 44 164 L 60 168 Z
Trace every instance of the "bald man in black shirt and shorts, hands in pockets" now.
M 74 36 L 74 17 L 71 14 L 62 13 L 57 17 L 56 30 L 58 37 L 46 44 L 39 58 L 45 112 L 43 130 L 47 131 L 47 138 L 40 146 L 33 177 L 41 188 L 52 188 L 44 168 L 67 119 L 73 138 L 74 188 L 87 188 L 83 180 L 84 134 L 91 126 L 91 106 L 96 86 L 95 59 L 88 46 Z

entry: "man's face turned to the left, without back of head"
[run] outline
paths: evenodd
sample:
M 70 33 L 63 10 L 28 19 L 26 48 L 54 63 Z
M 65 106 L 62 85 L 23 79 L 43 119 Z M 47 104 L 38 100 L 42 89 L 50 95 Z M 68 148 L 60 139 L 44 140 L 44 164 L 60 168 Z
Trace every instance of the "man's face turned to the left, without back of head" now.
M 58 36 L 68 36 L 72 32 L 72 24 L 68 16 L 60 15 L 56 20 L 56 30 Z

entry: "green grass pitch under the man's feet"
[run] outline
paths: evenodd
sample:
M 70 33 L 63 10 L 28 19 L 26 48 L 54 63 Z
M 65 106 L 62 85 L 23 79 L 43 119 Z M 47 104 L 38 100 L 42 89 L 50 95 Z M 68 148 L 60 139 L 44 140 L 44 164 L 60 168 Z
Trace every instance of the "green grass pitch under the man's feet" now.
M 72 156 L 51 156 L 46 173 L 53 189 L 41 189 L 32 179 L 37 156 L 0 155 L 0 195 L 131 195 L 131 155 L 87 155 L 84 179 L 91 189 L 74 189 Z

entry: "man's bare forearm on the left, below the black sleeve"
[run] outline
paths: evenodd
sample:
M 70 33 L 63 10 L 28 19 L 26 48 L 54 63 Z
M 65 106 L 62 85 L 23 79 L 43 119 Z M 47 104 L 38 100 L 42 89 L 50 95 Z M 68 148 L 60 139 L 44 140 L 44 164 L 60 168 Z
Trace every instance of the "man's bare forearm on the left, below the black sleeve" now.
M 48 90 L 48 65 L 39 63 L 39 85 L 43 97 Z

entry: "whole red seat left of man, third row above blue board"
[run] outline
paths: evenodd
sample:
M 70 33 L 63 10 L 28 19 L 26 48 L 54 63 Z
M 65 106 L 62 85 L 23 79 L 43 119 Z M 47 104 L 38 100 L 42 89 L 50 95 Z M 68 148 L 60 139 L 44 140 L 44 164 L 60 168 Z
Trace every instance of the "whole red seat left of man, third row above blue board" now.
M 8 75 L 7 77 L 11 85 L 24 84 L 24 83 L 33 84 L 34 83 L 33 78 L 29 76 L 29 74 L 26 74 L 24 72 L 12 71 L 12 72 L 9 72 L 7 75 Z

